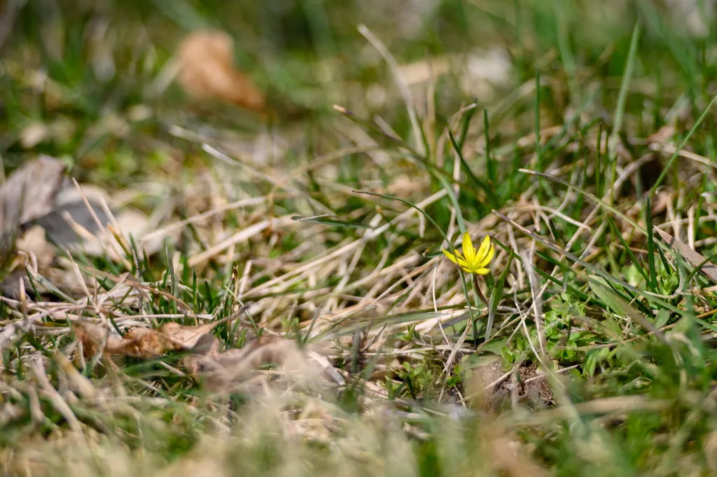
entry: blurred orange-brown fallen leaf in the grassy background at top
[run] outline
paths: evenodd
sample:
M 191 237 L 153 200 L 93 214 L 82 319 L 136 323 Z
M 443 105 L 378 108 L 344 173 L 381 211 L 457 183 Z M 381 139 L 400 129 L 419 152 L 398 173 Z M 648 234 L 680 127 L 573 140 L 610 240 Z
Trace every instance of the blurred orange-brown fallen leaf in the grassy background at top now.
M 247 75 L 234 68 L 234 41 L 213 30 L 195 32 L 179 45 L 179 85 L 196 99 L 218 98 L 261 112 L 262 91 Z

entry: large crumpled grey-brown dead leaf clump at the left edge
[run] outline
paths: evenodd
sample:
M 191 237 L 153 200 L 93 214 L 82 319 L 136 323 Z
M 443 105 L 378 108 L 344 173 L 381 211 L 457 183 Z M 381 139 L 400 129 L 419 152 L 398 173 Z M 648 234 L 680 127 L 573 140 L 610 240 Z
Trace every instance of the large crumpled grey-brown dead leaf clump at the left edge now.
M 92 281 L 78 281 L 66 260 L 54 260 L 54 246 L 127 263 L 120 254 L 129 246 L 130 237 L 138 240 L 147 255 L 163 250 L 167 238 L 179 237 L 179 230 L 174 230 L 163 237 L 139 240 L 156 224 L 138 209 L 114 210 L 112 202 L 99 187 L 72 184 L 65 176 L 65 164 L 50 156 L 39 156 L 13 171 L 0 185 L 0 268 L 4 270 L 0 293 L 17 298 L 20 280 L 29 289 L 26 268 L 47 280 L 50 289 L 83 294 L 92 288 Z M 108 204 L 109 212 L 103 204 Z

